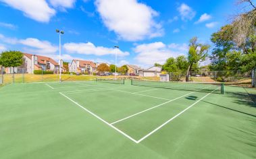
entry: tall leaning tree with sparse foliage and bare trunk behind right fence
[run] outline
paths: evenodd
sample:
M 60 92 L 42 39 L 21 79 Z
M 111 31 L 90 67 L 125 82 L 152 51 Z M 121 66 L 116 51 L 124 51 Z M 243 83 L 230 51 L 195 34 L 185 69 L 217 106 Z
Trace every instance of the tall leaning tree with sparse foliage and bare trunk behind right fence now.
M 186 71 L 186 82 L 189 81 L 189 72 L 194 64 L 202 62 L 209 52 L 209 44 L 201 44 L 197 42 L 197 37 L 191 38 L 188 51 L 188 69 Z

